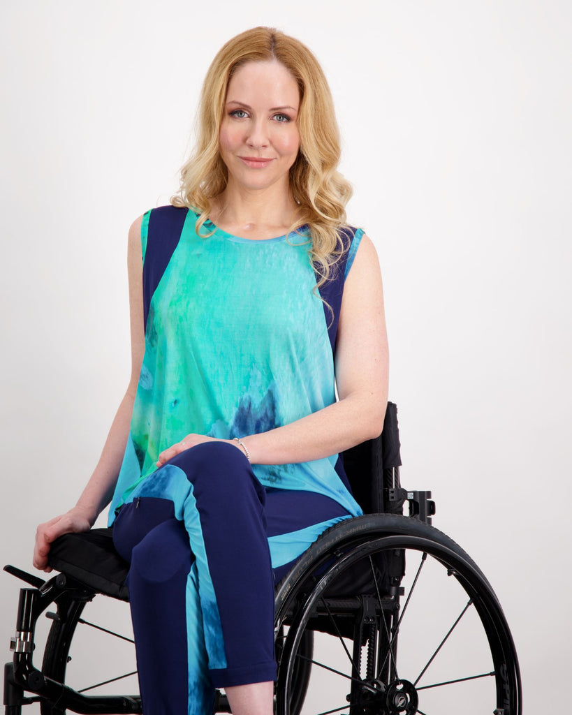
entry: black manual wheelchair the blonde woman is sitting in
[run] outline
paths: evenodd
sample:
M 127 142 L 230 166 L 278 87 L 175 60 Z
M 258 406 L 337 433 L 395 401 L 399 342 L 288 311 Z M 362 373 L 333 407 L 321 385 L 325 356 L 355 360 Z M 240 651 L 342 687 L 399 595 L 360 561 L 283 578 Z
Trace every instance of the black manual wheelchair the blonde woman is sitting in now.
M 344 463 L 365 516 L 322 534 L 277 585 L 276 714 L 521 715 L 518 659 L 493 589 L 431 526 L 431 493 L 400 485 L 395 405 L 388 404 L 381 437 L 347 450 Z M 66 682 L 77 626 L 106 631 L 83 617 L 84 608 L 99 594 L 128 600 L 128 566 L 109 530 L 60 537 L 50 561 L 60 573 L 48 581 L 5 567 L 32 587 L 20 591 L 14 659 L 4 671 L 6 715 L 34 702 L 41 715 L 141 713 L 137 695 L 84 694 L 123 676 L 82 689 Z M 36 621 L 54 605 L 38 669 Z M 230 712 L 220 691 L 215 712 Z

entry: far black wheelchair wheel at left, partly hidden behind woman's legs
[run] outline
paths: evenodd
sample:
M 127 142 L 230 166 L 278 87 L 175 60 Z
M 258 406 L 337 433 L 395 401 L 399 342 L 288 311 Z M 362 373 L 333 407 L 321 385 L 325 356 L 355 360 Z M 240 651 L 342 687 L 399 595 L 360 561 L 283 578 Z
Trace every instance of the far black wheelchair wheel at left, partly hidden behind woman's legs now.
M 99 596 L 91 603 L 94 595 L 91 593 L 85 597 L 71 593 L 58 599 L 57 613 L 49 614 L 53 622 L 46 639 L 41 671 L 44 676 L 54 681 L 66 686 L 71 685 L 79 694 L 92 696 L 93 712 L 141 713 L 141 700 L 138 695 L 119 695 L 128 688 L 134 691 L 138 689 L 132 638 L 117 633 L 115 628 L 118 626 L 115 623 L 94 622 L 101 621 L 99 611 L 102 607 L 107 606 L 109 610 L 109 599 Z M 124 604 L 120 601 L 113 603 L 117 604 L 121 611 L 121 620 L 130 623 Z M 90 613 L 84 618 L 84 608 L 88 604 Z M 89 653 L 92 659 L 89 681 L 85 681 L 84 675 L 74 672 L 76 653 Z M 124 666 L 119 675 L 110 673 L 109 663 L 106 662 L 110 658 L 113 659 L 113 656 Z M 109 701 L 106 702 L 108 698 Z M 40 711 L 41 715 L 64 715 L 66 712 L 46 700 L 40 701 Z

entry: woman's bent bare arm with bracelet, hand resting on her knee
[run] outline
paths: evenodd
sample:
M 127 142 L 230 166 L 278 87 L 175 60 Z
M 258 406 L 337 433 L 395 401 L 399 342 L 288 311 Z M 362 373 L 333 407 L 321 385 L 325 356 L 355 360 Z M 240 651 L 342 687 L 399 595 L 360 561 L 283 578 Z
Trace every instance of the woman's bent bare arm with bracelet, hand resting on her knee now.
M 241 437 L 253 464 L 320 459 L 377 437 L 383 429 L 388 401 L 388 340 L 378 256 L 365 235 L 345 282 L 335 372 L 337 403 L 289 425 Z M 184 444 L 177 443 L 159 455 L 159 464 L 209 439 L 187 435 Z M 236 442 L 233 444 L 240 449 Z

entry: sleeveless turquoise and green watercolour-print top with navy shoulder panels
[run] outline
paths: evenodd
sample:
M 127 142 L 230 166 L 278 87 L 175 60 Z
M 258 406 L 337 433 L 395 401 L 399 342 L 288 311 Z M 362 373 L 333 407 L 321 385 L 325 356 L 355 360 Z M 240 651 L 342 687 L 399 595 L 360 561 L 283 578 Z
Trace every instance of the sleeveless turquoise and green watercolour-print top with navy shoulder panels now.
M 266 432 L 336 400 L 337 322 L 363 231 L 340 232 L 345 250 L 318 292 L 307 229 L 250 240 L 209 221 L 209 235 L 197 235 L 196 221 L 174 206 L 143 217 L 145 352 L 109 524 L 185 435 Z M 338 455 L 252 469 L 267 488 L 321 493 L 361 513 Z

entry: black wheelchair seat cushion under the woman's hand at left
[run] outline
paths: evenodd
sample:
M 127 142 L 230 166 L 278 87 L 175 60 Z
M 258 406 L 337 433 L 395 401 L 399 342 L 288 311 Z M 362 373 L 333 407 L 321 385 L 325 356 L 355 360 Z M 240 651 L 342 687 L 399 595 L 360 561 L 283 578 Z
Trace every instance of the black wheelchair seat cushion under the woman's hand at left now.
M 56 538 L 49 551 L 49 565 L 95 591 L 129 601 L 125 586 L 129 564 L 115 551 L 111 528 Z

